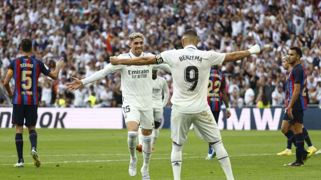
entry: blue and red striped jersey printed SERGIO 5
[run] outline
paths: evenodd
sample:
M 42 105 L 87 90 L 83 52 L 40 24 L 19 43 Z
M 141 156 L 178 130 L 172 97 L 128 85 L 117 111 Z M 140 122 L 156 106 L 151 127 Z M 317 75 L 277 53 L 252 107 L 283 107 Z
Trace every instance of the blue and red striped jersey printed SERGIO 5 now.
M 12 104 L 38 104 L 38 78 L 40 72 L 46 76 L 49 68 L 38 59 L 22 56 L 11 61 L 8 74 L 13 75 L 15 87 Z

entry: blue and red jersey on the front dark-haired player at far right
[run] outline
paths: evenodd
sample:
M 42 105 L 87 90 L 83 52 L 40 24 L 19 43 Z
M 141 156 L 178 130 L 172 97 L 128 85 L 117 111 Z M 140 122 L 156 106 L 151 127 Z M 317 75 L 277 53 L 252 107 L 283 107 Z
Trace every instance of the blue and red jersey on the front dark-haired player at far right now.
M 306 87 L 307 87 L 307 73 L 301 64 L 298 64 L 292 68 L 287 78 L 287 103 L 288 107 L 291 102 L 292 94 L 294 91 L 294 84 L 299 83 L 300 94 L 298 99 L 295 101 L 292 110 L 306 110 L 307 109 L 307 98 L 306 98 Z

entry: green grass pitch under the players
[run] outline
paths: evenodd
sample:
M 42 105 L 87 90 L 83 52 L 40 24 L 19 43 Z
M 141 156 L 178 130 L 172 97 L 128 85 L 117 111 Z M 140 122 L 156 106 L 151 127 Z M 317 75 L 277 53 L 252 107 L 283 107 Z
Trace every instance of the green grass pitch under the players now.
M 38 154 L 41 167 L 35 168 L 30 156 L 30 141 L 24 129 L 24 168 L 14 168 L 17 153 L 14 129 L 0 129 L 0 179 L 107 179 L 138 180 L 143 156 L 138 153 L 136 177 L 128 175 L 127 132 L 123 130 L 38 129 Z M 229 153 L 235 179 L 282 180 L 321 179 L 321 154 L 315 154 L 304 167 L 283 167 L 295 160 L 277 156 L 286 148 L 281 131 L 221 131 Z M 321 131 L 310 130 L 310 138 L 321 148 Z M 208 145 L 193 130 L 183 148 L 182 180 L 225 179 L 217 159 L 205 160 Z M 306 146 L 307 148 L 307 146 Z M 150 162 L 150 176 L 155 180 L 173 179 L 170 163 L 170 130 L 161 129 Z M 292 153 L 295 148 L 292 147 Z

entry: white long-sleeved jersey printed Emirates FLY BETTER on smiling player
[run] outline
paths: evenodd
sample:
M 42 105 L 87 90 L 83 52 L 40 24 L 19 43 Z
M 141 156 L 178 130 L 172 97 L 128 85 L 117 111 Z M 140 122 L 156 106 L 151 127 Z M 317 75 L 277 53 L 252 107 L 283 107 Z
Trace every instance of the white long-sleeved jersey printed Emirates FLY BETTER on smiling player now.
M 153 56 L 152 53 L 142 53 L 141 56 Z M 119 59 L 134 58 L 134 54 L 130 51 L 126 54 L 117 56 Z M 152 109 L 152 69 L 165 70 L 170 73 L 168 65 L 146 65 L 146 66 L 130 66 L 130 65 L 112 65 L 108 64 L 106 68 L 95 72 L 90 77 L 82 79 L 82 84 L 86 85 L 98 79 L 104 78 L 109 73 L 120 70 L 121 88 L 123 94 L 123 104 L 130 104 L 138 110 Z

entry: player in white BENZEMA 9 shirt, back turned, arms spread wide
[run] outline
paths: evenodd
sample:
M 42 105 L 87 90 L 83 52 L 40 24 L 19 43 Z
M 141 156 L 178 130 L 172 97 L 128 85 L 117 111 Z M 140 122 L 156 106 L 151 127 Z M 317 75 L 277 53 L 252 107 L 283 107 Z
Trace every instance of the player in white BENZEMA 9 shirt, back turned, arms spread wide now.
M 174 84 L 174 93 L 171 98 L 173 104 L 171 161 L 174 180 L 180 179 L 182 149 L 187 141 L 187 132 L 192 123 L 198 128 L 204 139 L 212 145 L 227 179 L 230 180 L 234 179 L 230 158 L 223 146 L 220 131 L 206 101 L 210 69 L 216 64 L 237 61 L 251 54 L 260 53 L 260 47 L 254 45 L 246 51 L 225 54 L 198 50 L 196 48 L 198 42 L 196 31 L 188 29 L 182 37 L 184 49 L 174 49 L 156 56 L 133 59 L 119 59 L 114 56 L 110 58 L 110 62 L 126 65 L 169 64 Z

